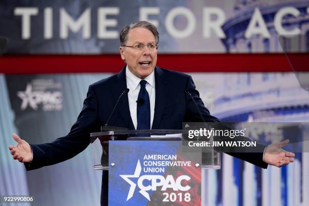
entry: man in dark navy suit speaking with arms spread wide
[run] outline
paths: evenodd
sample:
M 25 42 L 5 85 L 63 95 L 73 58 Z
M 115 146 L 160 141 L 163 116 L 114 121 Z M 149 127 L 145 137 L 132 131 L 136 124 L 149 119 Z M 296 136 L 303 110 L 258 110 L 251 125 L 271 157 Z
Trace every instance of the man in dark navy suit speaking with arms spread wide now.
M 13 158 L 25 163 L 27 170 L 53 165 L 76 156 L 90 143 L 90 132 L 104 125 L 118 97 L 126 88 L 129 93 L 119 101 L 109 125 L 134 129 L 182 129 L 183 122 L 201 122 L 202 118 L 184 90 L 191 93 L 205 122 L 219 122 L 204 107 L 192 78 L 179 72 L 161 69 L 157 64 L 159 33 L 146 21 L 126 26 L 120 34 L 120 54 L 126 65 L 120 73 L 89 86 L 87 98 L 70 133 L 52 143 L 29 145 L 17 134 L 17 146 L 9 146 Z M 142 102 L 140 100 L 142 99 Z M 279 144 L 278 149 L 286 144 Z M 267 168 L 268 164 L 281 167 L 293 161 L 291 152 L 263 153 L 266 146 L 252 155 L 232 155 Z M 281 150 L 280 150 L 281 151 Z M 264 158 L 264 160 L 263 160 Z M 108 172 L 102 175 L 101 204 L 108 201 Z

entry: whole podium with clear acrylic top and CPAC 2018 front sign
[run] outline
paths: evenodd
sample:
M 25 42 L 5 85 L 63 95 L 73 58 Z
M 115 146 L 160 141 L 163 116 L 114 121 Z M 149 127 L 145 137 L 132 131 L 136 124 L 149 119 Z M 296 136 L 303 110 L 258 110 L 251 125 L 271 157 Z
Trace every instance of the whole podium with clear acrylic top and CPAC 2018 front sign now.
M 201 205 L 201 170 L 221 168 L 220 152 L 188 146 L 188 130 L 90 136 L 93 169 L 109 171 L 109 205 Z

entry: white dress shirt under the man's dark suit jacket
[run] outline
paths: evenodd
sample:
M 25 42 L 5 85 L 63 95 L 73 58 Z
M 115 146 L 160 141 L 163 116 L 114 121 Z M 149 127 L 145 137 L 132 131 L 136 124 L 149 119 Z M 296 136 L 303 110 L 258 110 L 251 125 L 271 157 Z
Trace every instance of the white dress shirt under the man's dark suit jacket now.
M 137 103 L 136 100 L 138 98 L 138 93 L 140 90 L 140 84 L 139 82 L 142 80 L 132 74 L 130 70 L 128 69 L 128 66 L 126 68 L 126 80 L 127 80 L 127 87 L 130 89 L 128 92 L 128 99 L 129 99 L 129 108 L 130 108 L 130 114 L 131 119 L 133 122 L 133 125 L 135 129 L 137 129 Z M 150 101 L 150 129 L 152 127 L 153 122 L 153 116 L 155 115 L 155 101 L 156 101 L 156 85 L 155 85 L 155 72 L 154 70 L 152 73 L 147 76 L 144 79 L 146 83 L 146 90 L 149 95 L 149 101 Z

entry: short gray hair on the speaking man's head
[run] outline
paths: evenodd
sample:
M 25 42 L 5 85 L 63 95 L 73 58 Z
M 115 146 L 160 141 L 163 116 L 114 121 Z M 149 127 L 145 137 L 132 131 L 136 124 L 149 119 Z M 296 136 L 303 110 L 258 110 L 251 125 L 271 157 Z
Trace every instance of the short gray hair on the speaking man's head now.
M 134 28 L 145 28 L 151 31 L 153 36 L 156 38 L 156 44 L 159 43 L 159 32 L 156 28 L 155 25 L 151 24 L 150 22 L 147 21 L 138 21 L 138 22 L 133 22 L 129 26 L 125 26 L 121 32 L 120 32 L 120 43 L 121 45 L 125 45 L 126 41 L 128 40 L 128 33 L 131 29 Z

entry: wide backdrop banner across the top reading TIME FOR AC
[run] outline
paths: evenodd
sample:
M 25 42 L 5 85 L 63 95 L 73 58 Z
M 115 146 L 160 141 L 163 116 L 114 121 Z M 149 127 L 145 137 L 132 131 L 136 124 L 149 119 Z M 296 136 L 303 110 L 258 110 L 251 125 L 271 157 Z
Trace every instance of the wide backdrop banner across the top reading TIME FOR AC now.
M 305 53 L 308 6 L 305 0 L 1 1 L 0 37 L 9 39 L 10 54 L 118 54 L 122 28 L 147 20 L 161 34 L 161 53 Z

